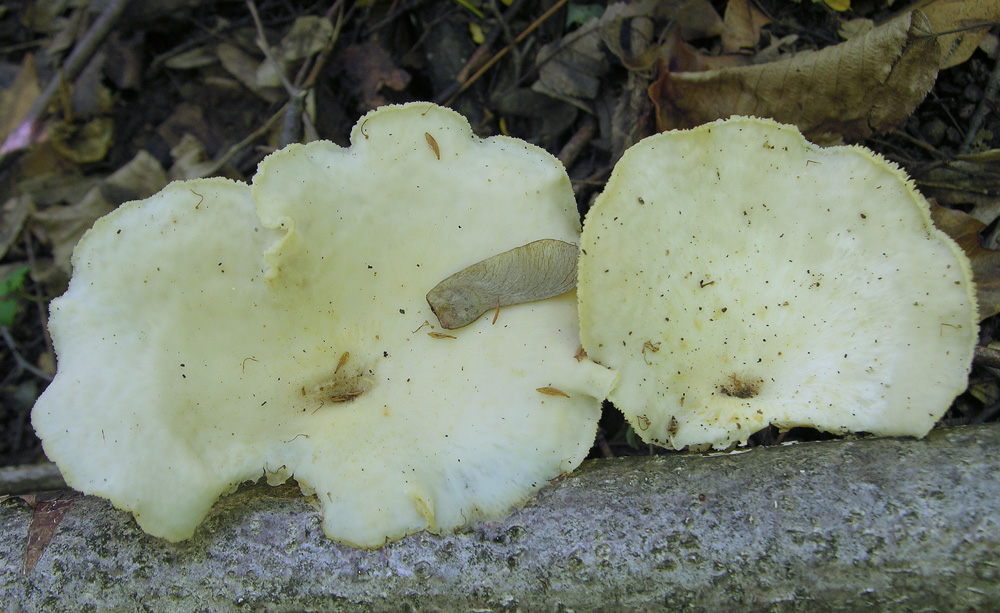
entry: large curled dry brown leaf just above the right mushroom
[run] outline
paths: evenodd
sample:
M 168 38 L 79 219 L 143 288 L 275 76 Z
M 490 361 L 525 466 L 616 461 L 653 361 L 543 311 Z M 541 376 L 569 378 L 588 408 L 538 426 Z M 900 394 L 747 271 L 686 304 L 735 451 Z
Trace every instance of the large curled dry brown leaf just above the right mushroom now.
M 650 87 L 660 130 L 731 115 L 795 124 L 821 144 L 895 127 L 937 78 L 940 51 L 919 11 L 791 59 L 705 72 L 664 71 Z

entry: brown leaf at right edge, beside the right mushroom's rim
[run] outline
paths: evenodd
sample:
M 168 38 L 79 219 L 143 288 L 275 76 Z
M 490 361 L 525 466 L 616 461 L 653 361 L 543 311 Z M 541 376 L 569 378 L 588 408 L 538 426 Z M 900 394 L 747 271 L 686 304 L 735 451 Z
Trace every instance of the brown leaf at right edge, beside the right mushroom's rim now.
M 934 225 L 955 239 L 972 262 L 980 321 L 1000 313 L 1000 251 L 983 246 L 980 233 L 986 225 L 961 211 L 934 202 L 931 203 L 931 217 Z

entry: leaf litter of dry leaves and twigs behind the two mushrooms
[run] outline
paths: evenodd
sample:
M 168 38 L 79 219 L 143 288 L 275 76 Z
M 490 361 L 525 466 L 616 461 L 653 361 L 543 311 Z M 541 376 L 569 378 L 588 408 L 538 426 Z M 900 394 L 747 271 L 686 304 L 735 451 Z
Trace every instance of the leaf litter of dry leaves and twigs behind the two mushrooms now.
M 26 416 L 45 381 L 17 365 L 54 362 L 45 304 L 94 219 L 172 179 L 245 179 L 282 143 L 344 144 L 362 112 L 409 100 L 558 154 L 581 212 L 658 130 L 744 113 L 861 142 L 941 205 L 976 269 L 984 351 L 996 343 L 998 0 L 106 4 L 0 13 L 0 267 L 30 271 L 0 346 L 0 464 L 41 457 Z M 1000 379 L 984 364 L 973 380 Z M 945 422 L 995 415 L 991 398 L 961 396 Z M 821 437 L 751 444 L 790 436 Z M 609 412 L 593 453 L 640 451 Z

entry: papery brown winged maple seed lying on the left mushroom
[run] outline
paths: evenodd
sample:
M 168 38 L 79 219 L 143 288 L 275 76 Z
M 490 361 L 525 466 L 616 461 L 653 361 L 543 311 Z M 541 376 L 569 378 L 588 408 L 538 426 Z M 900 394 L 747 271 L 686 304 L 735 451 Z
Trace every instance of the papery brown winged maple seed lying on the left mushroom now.
M 490 309 L 534 302 L 576 287 L 576 245 L 542 239 L 486 258 L 427 292 L 427 303 L 448 330 L 467 326 Z

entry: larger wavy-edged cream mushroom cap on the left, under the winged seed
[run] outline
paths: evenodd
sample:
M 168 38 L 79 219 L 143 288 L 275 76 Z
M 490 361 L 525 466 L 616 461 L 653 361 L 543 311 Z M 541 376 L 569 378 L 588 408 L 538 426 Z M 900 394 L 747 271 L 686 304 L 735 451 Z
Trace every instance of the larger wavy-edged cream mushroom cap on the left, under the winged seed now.
M 559 162 L 431 104 L 252 188 L 173 183 L 77 246 L 33 423 L 71 486 L 172 541 L 262 474 L 355 546 L 497 517 L 585 457 L 615 373 L 574 357 L 572 292 L 447 334 L 424 295 L 541 238 L 579 239 Z

